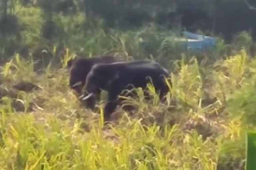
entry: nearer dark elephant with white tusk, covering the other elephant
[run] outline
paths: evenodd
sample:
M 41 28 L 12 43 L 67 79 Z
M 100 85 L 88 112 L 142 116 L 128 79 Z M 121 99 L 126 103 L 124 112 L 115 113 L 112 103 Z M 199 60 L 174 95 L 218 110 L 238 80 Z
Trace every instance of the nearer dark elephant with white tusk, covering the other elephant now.
M 86 97 L 83 100 L 97 97 L 98 90 L 108 92 L 108 102 L 104 107 L 104 117 L 109 119 L 112 112 L 122 99 L 118 95 L 131 96 L 124 94 L 124 90 L 132 90 L 134 87 L 146 89 L 150 78 L 159 93 L 160 100 L 167 94 L 169 88 L 165 83 L 164 77 L 168 78 L 168 71 L 156 62 L 151 61 L 123 61 L 108 64 L 95 64 L 88 73 L 85 83 Z M 150 77 L 150 78 L 149 78 Z M 171 84 L 171 83 L 170 83 Z M 94 106 L 90 106 L 93 108 Z

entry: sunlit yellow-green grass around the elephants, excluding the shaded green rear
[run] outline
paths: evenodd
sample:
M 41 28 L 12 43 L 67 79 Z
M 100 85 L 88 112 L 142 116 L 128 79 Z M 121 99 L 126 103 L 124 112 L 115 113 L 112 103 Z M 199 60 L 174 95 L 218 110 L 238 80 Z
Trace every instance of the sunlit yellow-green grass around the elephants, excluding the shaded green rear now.
M 245 50 L 208 65 L 176 60 L 167 103 L 140 95 L 137 111 L 117 109 L 110 125 L 69 89 L 69 57 L 40 72 L 19 54 L 1 66 L 0 169 L 244 169 L 256 118 L 256 59 Z M 41 88 L 13 89 L 21 80 Z

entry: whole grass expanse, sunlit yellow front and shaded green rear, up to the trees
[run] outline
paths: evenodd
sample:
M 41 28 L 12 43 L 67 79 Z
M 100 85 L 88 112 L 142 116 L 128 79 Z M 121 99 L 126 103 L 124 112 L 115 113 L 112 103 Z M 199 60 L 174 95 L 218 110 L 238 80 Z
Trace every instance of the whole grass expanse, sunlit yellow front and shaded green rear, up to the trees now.
M 156 25 L 105 30 L 98 22 L 81 31 L 77 25 L 92 23 L 79 13 L 56 16 L 64 26 L 63 39 L 48 42 L 39 31 L 40 10 L 21 7 L 18 14 L 21 25 L 31 21 L 21 32 L 24 43 L 11 38 L 0 42 L 0 57 L 10 48 L 16 51 L 1 64 L 1 169 L 244 168 L 245 131 L 255 129 L 256 77 L 246 33 L 230 45 L 218 40 L 212 51 L 184 52 L 174 41 L 180 30 Z M 27 56 L 17 52 L 24 48 L 29 49 Z M 105 98 L 95 112 L 82 106 L 68 87 L 65 69 L 75 55 L 105 53 L 155 60 L 166 67 L 172 83 L 167 101 L 159 101 L 151 84 L 150 101 L 142 89 L 135 89 L 138 97 L 124 103 L 135 106 L 132 113 L 118 107 L 105 125 Z M 29 93 L 13 89 L 21 80 L 42 88 Z

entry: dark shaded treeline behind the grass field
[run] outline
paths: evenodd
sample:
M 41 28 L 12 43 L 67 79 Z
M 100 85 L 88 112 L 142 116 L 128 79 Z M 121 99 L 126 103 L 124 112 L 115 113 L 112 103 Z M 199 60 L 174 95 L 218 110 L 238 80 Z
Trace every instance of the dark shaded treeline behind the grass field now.
M 256 4 L 254 0 L 1 0 L 0 50 L 5 55 L 35 54 L 56 42 L 81 46 L 81 38 L 97 29 L 125 32 L 148 23 L 165 30 L 200 30 L 227 42 L 241 31 L 255 38 L 256 10 L 246 2 Z

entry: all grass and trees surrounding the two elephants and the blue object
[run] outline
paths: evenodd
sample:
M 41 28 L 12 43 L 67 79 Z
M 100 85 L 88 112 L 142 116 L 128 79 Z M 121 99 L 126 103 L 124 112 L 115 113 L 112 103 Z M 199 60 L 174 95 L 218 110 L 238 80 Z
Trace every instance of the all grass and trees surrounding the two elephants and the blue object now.
M 256 121 L 256 10 L 247 2 L 2 0 L 1 169 L 244 169 Z M 216 46 L 177 46 L 183 27 L 218 37 Z M 83 107 L 66 69 L 75 55 L 103 53 L 161 63 L 172 75 L 167 103 L 140 95 L 129 99 L 133 115 L 119 108 L 104 125 L 107 94 L 98 113 Z M 40 89 L 14 89 L 21 80 Z

